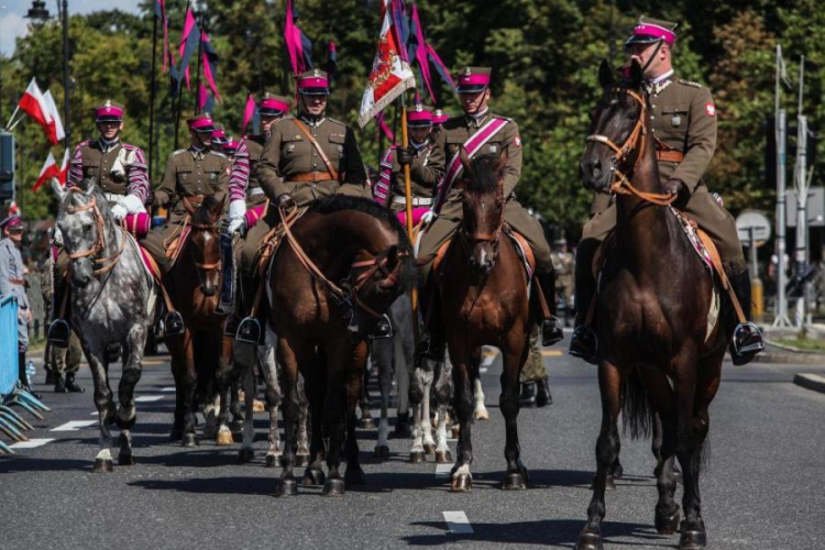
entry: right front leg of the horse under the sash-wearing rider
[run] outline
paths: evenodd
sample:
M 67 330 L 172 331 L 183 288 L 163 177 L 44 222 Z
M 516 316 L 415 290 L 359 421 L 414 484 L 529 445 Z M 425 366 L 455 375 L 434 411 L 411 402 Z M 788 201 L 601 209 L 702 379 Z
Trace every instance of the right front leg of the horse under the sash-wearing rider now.
M 529 481 L 527 468 L 521 463 L 521 448 L 518 442 L 518 409 L 520 405 L 518 376 L 530 352 L 530 334 L 529 330 L 526 336 L 519 336 L 515 331 L 510 333 L 514 336 L 505 343 L 505 350 L 502 353 L 502 395 L 498 398 L 498 406 L 504 415 L 506 429 L 504 458 L 507 461 L 507 471 L 503 487 L 508 491 L 527 488 L 527 482 Z M 480 358 L 473 359 L 476 362 L 480 360 Z

